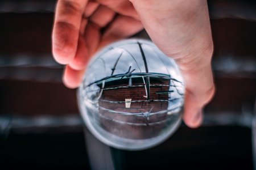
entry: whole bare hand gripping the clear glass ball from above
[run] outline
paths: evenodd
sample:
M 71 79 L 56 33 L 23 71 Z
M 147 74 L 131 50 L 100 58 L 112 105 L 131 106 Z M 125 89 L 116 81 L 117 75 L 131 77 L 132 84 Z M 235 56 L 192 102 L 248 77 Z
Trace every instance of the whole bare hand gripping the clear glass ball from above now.
M 183 120 L 197 128 L 214 94 L 213 42 L 205 0 L 59 0 L 52 53 L 66 65 L 65 86 L 79 86 L 90 57 L 102 46 L 142 29 L 179 65 L 186 83 Z

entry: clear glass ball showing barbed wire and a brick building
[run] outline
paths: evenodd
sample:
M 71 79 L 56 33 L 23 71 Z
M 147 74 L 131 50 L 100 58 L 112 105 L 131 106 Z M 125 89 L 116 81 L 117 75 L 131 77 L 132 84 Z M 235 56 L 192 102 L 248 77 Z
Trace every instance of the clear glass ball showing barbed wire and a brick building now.
M 174 60 L 151 41 L 130 39 L 94 55 L 77 95 L 96 138 L 115 148 L 142 150 L 179 127 L 184 83 Z

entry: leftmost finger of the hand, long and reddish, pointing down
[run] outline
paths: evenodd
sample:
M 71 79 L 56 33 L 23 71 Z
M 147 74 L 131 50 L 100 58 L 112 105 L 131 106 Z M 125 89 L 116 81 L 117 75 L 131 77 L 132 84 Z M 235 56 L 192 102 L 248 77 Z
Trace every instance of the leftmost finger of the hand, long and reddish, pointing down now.
M 59 0 L 52 31 L 52 53 L 61 64 L 76 55 L 82 14 L 88 0 Z

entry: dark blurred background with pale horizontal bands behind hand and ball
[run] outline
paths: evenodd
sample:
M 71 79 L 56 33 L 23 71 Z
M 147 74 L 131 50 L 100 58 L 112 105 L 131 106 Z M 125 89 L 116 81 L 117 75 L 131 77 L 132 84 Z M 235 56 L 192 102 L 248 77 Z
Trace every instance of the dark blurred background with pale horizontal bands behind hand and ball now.
M 0 169 L 254 169 L 256 1 L 208 1 L 216 95 L 200 128 L 181 125 L 144 151 L 84 135 L 76 90 L 61 83 L 51 54 L 55 3 L 0 1 Z

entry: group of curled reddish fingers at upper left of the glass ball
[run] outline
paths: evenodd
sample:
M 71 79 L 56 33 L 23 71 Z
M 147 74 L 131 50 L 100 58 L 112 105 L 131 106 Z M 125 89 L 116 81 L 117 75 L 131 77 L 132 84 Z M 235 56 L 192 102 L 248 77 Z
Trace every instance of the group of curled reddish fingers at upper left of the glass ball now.
M 63 74 L 65 86 L 69 88 L 79 86 L 89 58 L 100 44 L 101 28 L 112 22 L 104 33 L 105 39 L 101 46 L 131 36 L 143 28 L 138 20 L 127 16 L 118 16 L 113 21 L 114 15 L 113 10 L 100 6 L 97 2 L 85 0 L 58 2 L 52 50 L 57 62 L 68 64 Z

